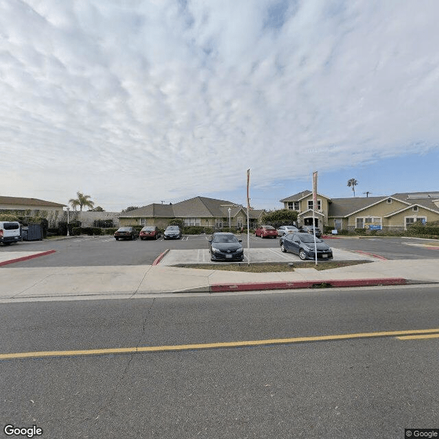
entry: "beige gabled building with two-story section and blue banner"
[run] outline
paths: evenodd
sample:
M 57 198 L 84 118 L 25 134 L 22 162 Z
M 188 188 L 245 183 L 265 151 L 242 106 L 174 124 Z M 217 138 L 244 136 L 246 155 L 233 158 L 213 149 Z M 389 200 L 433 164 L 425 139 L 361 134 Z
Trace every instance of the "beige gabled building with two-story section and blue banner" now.
M 312 224 L 312 192 L 281 200 L 299 212 L 298 224 Z M 385 197 L 328 198 L 318 194 L 316 224 L 337 230 L 405 230 L 414 222 L 439 220 L 439 192 L 394 193 Z

